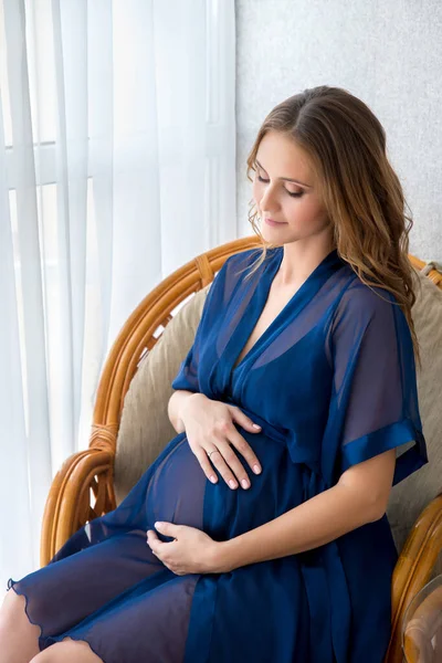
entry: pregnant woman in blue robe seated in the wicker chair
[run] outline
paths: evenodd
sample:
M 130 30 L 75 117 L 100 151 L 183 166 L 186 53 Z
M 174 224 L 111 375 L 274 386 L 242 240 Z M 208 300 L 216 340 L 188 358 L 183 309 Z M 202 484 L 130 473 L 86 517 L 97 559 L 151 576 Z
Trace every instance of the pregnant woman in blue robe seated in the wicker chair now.
M 386 507 L 428 462 L 412 221 L 382 126 L 344 90 L 277 105 L 248 165 L 262 249 L 208 292 L 178 434 L 115 511 L 10 579 L 0 663 L 385 657 Z

